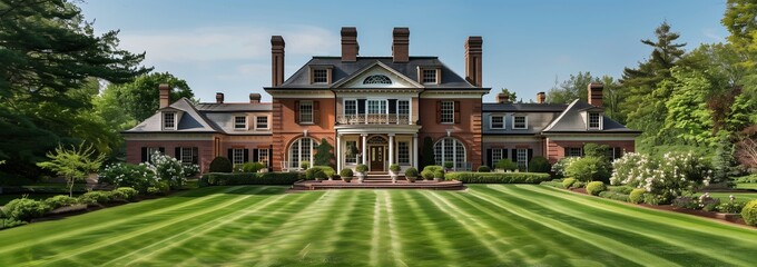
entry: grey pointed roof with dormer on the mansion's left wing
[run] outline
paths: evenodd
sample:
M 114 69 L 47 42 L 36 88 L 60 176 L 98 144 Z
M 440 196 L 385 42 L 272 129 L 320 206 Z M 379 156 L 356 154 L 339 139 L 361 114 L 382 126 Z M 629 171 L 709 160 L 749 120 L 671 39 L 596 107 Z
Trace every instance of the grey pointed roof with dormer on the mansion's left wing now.
M 145 121 L 135 126 L 131 129 L 125 130 L 125 134 L 139 134 L 139 132 L 223 132 L 220 129 L 216 128 L 213 123 L 209 123 L 205 116 L 201 116 L 194 107 L 194 105 L 186 98 L 181 98 L 178 101 L 171 103 L 167 108 L 161 110 L 178 110 L 184 112 L 180 116 L 180 120 L 176 126 L 176 130 L 163 130 L 163 121 L 160 112 L 147 118 Z

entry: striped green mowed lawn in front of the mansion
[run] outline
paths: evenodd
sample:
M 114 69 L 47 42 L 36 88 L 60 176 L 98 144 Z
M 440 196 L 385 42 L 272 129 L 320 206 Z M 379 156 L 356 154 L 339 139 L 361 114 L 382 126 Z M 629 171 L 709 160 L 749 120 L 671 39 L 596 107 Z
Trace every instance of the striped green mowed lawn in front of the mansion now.
M 750 266 L 757 229 L 542 186 L 189 190 L 0 231 L 0 266 Z

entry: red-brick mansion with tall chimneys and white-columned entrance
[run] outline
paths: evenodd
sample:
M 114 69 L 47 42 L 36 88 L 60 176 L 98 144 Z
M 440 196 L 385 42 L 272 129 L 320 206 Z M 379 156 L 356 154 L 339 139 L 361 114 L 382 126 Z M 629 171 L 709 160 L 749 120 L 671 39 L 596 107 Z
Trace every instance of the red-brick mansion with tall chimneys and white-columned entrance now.
M 284 39 L 272 37 L 272 85 L 264 88 L 272 102 L 258 93 L 249 102 L 225 102 L 218 92 L 215 102 L 193 103 L 170 99 L 171 88 L 161 85 L 157 112 L 122 132 L 127 161 L 161 151 L 203 172 L 217 156 L 287 171 L 313 166 L 316 146 L 326 141 L 337 171 L 358 164 L 372 174 L 392 164 L 417 168 L 425 157 L 451 161 L 455 170 L 504 158 L 525 169 L 534 156 L 552 164 L 581 156 L 587 142 L 609 145 L 620 157 L 640 135 L 603 115 L 601 83 L 588 86 L 588 102 L 545 103 L 543 92 L 535 103 L 502 93 L 482 102 L 491 88 L 482 87 L 481 37 L 465 40 L 461 77 L 438 57 L 411 57 L 407 28 L 394 28 L 391 57 L 360 57 L 355 28 L 342 28 L 341 36 L 341 57 L 313 57 L 287 79 Z M 422 155 L 429 138 L 433 155 Z

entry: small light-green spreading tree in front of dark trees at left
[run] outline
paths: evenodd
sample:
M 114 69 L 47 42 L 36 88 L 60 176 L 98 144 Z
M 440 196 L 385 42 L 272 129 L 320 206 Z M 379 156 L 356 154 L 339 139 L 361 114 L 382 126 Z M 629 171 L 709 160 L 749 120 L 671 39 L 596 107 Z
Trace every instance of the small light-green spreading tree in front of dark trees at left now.
M 55 171 L 68 181 L 68 196 L 73 196 L 73 184 L 83 180 L 90 172 L 100 169 L 105 155 L 97 152 L 92 146 L 71 146 L 70 149 L 62 146 L 56 148 L 55 154 L 48 152 L 50 161 L 39 162 L 37 166 Z

